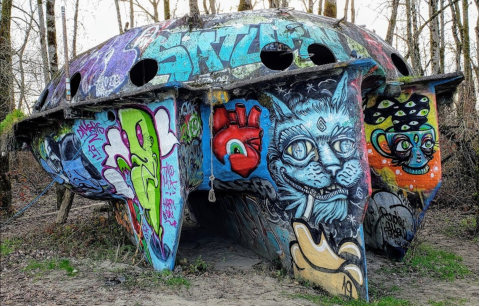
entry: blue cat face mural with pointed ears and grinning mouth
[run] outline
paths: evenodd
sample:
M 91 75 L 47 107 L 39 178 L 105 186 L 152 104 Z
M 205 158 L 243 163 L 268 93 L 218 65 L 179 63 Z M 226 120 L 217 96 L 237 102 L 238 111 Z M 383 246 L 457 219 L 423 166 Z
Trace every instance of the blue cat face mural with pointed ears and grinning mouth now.
M 288 202 L 285 209 L 316 225 L 346 218 L 348 198 L 363 175 L 347 103 L 348 73 L 331 93 L 335 83 L 302 84 L 306 90 L 294 93 L 278 88 L 282 99 L 270 94 L 276 114 L 270 173 Z

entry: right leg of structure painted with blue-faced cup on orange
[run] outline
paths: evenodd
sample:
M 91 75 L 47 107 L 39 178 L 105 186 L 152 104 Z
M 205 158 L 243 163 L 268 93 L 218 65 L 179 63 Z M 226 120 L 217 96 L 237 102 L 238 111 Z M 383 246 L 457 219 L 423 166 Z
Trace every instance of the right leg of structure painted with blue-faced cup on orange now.
M 395 260 L 406 254 L 441 184 L 435 85 L 453 80 L 411 82 L 399 96 L 364 101 L 373 187 L 365 238 Z

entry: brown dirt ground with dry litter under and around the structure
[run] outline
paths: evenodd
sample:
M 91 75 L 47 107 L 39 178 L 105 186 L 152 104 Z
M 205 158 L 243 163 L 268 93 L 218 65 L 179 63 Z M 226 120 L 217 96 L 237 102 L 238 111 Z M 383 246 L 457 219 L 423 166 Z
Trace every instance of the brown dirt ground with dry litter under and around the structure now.
M 46 179 L 37 180 L 40 182 L 20 179 L 14 185 L 17 209 L 48 183 Z M 108 215 L 106 207 L 106 203 L 76 197 L 65 226 L 70 224 L 81 231 L 81 227 L 71 224 L 104 220 Z M 479 239 L 462 231 L 465 217 L 459 211 L 431 208 L 419 241 L 460 255 L 470 274 L 446 281 L 419 273 L 394 273 L 391 269 L 403 263 L 368 251 L 371 300 L 394 297 L 410 305 L 479 305 Z M 113 256 L 92 258 L 69 251 L 68 248 L 81 250 L 77 247 L 84 243 L 69 239 L 74 234 L 62 236 L 51 247 L 36 244 L 37 240 L 52 239 L 49 224 L 54 220 L 54 193 L 50 190 L 21 218 L 1 228 L 2 241 L 20 242 L 0 260 L 0 305 L 317 305 L 304 297 L 324 295 L 233 241 L 193 223 L 186 222 L 182 231 L 177 258 L 183 265 L 172 275 L 159 278 L 150 267 L 138 262 L 133 250 L 124 252 L 122 248 L 120 252 L 120 246 L 107 250 Z M 69 260 L 74 276 L 62 269 L 25 269 L 32 262 L 59 258 Z M 192 271 L 200 264 L 207 267 L 201 273 Z M 167 285 L 165 279 L 186 280 L 189 286 Z

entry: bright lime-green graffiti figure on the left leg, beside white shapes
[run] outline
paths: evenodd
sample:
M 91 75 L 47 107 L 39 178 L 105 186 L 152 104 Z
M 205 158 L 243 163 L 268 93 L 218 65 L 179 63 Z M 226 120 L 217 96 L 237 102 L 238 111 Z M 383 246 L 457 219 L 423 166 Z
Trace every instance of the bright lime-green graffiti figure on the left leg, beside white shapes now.
M 133 188 L 148 223 L 161 240 L 161 155 L 155 124 L 151 115 L 143 110 L 121 109 L 118 113 L 123 128 L 122 139 L 130 150 Z M 117 162 L 120 167 L 125 164 L 121 158 Z

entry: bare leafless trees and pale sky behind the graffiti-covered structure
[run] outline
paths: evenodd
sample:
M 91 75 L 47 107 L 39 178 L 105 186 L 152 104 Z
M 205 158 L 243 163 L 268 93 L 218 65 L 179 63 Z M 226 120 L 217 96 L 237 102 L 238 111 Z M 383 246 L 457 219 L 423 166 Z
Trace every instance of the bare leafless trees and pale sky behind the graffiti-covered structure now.
M 66 8 L 66 45 L 61 7 Z M 475 214 L 479 232 L 479 0 L 0 0 L 0 214 L 11 213 L 15 155 L 7 129 L 31 114 L 69 58 L 137 27 L 185 14 L 293 7 L 364 25 L 395 47 L 414 76 L 462 71 L 453 103 L 439 105 L 443 186 L 435 202 Z M 2 130 L 3 129 L 3 130 Z M 59 187 L 58 208 L 73 195 Z M 57 218 L 64 222 L 66 215 Z

